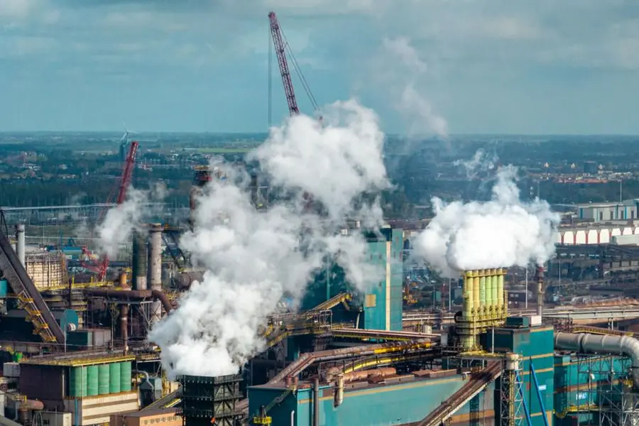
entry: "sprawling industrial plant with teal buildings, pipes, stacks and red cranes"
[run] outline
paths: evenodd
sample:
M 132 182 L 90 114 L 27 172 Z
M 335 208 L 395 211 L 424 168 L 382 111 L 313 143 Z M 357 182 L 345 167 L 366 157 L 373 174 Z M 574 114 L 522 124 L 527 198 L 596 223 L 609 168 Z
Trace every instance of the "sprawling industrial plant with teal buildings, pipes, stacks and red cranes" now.
M 269 20 L 290 114 L 298 114 L 285 40 L 275 13 Z M 137 150 L 132 141 L 114 208 L 126 200 Z M 236 373 L 170 377 L 149 333 L 206 276 L 180 236 L 194 229 L 209 182 L 227 178 L 206 165 L 194 175 L 187 223 L 135 226 L 124 261 L 75 244 L 29 251 L 25 224 L 9 223 L 0 209 L 1 425 L 639 423 L 639 337 L 632 331 L 639 307 L 626 299 L 559 300 L 559 293 L 586 288 L 586 278 L 588 291 L 599 285 L 636 295 L 639 251 L 616 241 L 639 232 L 630 223 L 616 224 L 621 231 L 564 228 L 557 256 L 535 265 L 530 280 L 528 268 L 522 279 L 510 265 L 458 271 L 459 280 L 448 280 L 448 307 L 439 281 L 429 279 L 432 306 L 406 310 L 410 226 L 367 229 L 344 220 L 339 235 L 361 237 L 364 263 L 377 271 L 364 290 L 327 256 L 300 305 L 283 297 L 263 318 L 263 345 Z M 263 214 L 268 185 L 253 170 L 247 176 L 251 208 Z M 314 209 L 312 195 L 304 195 L 304 208 Z M 634 218 L 638 202 L 626 207 L 612 214 L 611 207 L 584 206 L 579 214 L 595 222 Z

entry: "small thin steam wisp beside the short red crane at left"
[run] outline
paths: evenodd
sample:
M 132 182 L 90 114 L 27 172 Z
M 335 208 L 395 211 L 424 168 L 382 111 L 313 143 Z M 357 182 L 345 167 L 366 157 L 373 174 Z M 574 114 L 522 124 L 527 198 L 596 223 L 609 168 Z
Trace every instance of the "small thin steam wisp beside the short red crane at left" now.
M 149 191 L 129 187 L 126 200 L 111 207 L 97 226 L 99 250 L 111 258 L 115 257 L 120 246 L 131 239 L 133 229 L 141 228 L 145 219 L 158 213 L 146 204 L 160 202 L 165 196 L 164 185 L 155 185 Z

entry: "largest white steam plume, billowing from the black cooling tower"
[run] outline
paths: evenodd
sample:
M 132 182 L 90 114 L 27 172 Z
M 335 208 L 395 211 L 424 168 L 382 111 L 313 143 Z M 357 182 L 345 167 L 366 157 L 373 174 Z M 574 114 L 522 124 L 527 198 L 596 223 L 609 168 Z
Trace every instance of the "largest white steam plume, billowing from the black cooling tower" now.
M 263 348 L 258 329 L 280 299 L 299 302 L 324 256 L 335 256 L 351 283 L 364 288 L 374 273 L 359 234 L 339 234 L 343 217 L 378 217 L 378 206 L 354 207 L 361 192 L 387 187 L 383 135 L 372 111 L 356 102 L 329 107 L 341 120 L 324 126 L 295 116 L 251 157 L 287 195 L 266 212 L 251 205 L 246 173 L 228 168 L 213 180 L 195 212 L 195 229 L 180 244 L 207 272 L 159 322 L 149 339 L 170 376 L 236 373 Z M 223 164 L 218 164 L 225 168 Z M 326 214 L 305 209 L 310 192 Z

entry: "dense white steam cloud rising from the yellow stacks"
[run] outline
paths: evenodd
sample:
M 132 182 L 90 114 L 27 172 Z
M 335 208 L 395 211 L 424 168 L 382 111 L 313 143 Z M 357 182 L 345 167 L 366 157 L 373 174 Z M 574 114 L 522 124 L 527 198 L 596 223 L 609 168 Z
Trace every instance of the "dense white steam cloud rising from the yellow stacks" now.
M 446 278 L 460 271 L 541 264 L 555 253 L 559 214 L 536 199 L 522 202 L 516 169 L 501 168 L 488 202 L 432 199 L 435 217 L 417 236 L 415 256 Z

